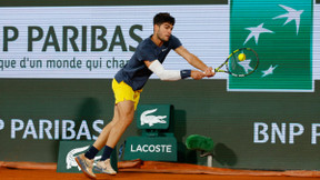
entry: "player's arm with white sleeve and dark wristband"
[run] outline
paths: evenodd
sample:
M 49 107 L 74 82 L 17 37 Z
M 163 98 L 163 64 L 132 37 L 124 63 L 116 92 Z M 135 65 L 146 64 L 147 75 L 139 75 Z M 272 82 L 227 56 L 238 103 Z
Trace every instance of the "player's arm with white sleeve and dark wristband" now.
M 166 70 L 159 60 L 144 61 L 144 63 L 162 81 L 178 81 L 188 77 L 199 80 L 204 77 L 202 72 L 194 70 Z

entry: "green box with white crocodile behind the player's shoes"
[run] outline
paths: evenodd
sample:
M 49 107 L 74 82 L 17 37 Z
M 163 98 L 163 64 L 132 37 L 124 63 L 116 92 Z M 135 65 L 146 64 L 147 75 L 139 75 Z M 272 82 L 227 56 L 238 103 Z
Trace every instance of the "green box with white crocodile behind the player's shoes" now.
M 74 158 L 84 153 L 94 141 L 60 141 L 57 172 L 82 172 Z M 101 159 L 103 150 L 99 151 L 94 161 Z M 113 149 L 110 157 L 112 168 L 118 171 L 117 149 Z M 93 163 L 96 166 L 96 162 Z M 100 173 L 94 171 L 94 173 Z

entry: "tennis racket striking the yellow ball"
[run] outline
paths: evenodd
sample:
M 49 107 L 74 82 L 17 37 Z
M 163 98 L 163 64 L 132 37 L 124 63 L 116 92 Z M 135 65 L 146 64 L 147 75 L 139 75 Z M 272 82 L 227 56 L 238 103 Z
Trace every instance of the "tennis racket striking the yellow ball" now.
M 253 73 L 259 64 L 258 53 L 251 48 L 234 50 L 214 72 L 226 72 L 233 77 L 247 77 Z M 226 69 L 221 69 L 226 67 Z

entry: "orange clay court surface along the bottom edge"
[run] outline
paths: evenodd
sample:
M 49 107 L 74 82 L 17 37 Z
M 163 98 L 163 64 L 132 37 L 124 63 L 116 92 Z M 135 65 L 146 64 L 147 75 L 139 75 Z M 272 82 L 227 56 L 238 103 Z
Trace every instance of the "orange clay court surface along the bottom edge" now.
M 318 179 L 318 171 L 259 171 L 232 170 L 223 168 L 208 168 L 197 164 L 157 162 L 157 161 L 126 161 L 119 162 L 117 176 L 97 174 L 97 179 L 243 179 L 243 180 L 304 180 Z M 88 179 L 83 173 L 57 172 L 57 163 L 36 162 L 0 162 L 0 179 L 2 180 L 80 180 Z

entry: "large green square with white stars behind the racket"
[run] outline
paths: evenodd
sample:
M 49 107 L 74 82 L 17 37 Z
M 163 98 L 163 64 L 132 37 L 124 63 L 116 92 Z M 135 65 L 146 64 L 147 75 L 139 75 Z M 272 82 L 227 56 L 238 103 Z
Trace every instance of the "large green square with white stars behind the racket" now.
M 230 76 L 228 90 L 312 92 L 312 1 L 231 4 L 230 49 L 254 49 L 260 64 L 249 77 Z

